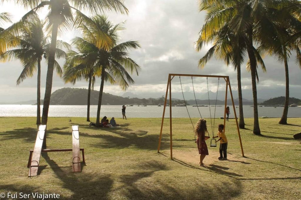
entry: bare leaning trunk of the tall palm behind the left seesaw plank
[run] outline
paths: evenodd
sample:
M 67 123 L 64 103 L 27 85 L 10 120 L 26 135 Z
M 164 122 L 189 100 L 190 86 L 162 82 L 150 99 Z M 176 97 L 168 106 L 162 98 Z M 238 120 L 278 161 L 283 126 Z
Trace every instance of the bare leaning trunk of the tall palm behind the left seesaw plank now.
M 44 96 L 43 114 L 42 114 L 42 124 L 44 125 L 47 125 L 47 120 L 48 120 L 48 110 L 49 110 L 51 88 L 52 88 L 52 76 L 53 76 L 53 68 L 54 68 L 55 46 L 57 40 L 58 26 L 59 24 L 54 22 L 52 25 L 52 32 L 51 32 L 51 44 L 49 49 L 48 69 L 47 69 L 47 76 L 46 76 L 46 87 L 45 87 L 45 96 Z M 47 132 L 45 132 L 44 135 L 42 148 L 46 148 L 46 133 Z

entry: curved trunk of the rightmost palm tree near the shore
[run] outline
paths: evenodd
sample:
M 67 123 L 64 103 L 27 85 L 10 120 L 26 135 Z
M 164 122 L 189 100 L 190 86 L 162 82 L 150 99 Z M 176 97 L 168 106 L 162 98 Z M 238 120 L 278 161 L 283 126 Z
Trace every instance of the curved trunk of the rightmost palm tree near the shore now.
M 290 98 L 290 86 L 289 86 L 289 76 L 288 76 L 288 64 L 287 64 L 287 52 L 283 48 L 284 54 L 284 68 L 285 68 L 285 102 L 282 117 L 279 121 L 279 124 L 287 124 L 287 113 L 288 113 L 288 104 Z

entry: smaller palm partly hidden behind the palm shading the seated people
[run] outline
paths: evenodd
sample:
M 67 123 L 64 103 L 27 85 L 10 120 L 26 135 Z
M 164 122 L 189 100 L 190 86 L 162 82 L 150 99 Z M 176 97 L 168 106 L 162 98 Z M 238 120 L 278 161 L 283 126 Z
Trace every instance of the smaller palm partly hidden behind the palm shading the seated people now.
M 99 73 L 95 73 L 97 67 L 93 66 L 94 63 L 90 65 L 82 64 L 81 61 L 90 52 L 90 49 L 81 49 L 81 46 L 76 46 L 80 53 L 75 51 L 70 51 L 67 53 L 68 57 L 64 64 L 64 76 L 63 79 L 65 83 L 71 82 L 73 85 L 76 80 L 85 79 L 89 82 L 88 84 L 88 98 L 87 98 L 87 121 L 90 121 L 90 94 L 91 88 L 94 89 L 95 77 Z

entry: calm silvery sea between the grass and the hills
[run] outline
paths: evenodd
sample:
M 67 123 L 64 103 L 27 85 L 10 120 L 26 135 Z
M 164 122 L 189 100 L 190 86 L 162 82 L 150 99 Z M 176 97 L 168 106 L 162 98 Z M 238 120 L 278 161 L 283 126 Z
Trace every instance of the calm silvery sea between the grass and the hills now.
M 200 117 L 197 107 L 187 106 L 190 116 L 192 118 Z M 122 106 L 101 106 L 101 116 L 108 117 L 122 117 Z M 224 107 L 211 106 L 211 116 L 214 116 L 214 110 L 216 108 L 215 117 L 224 116 Z M 200 113 L 203 118 L 210 117 L 209 107 L 199 107 Z M 42 106 L 41 106 L 42 112 Z M 90 106 L 90 117 L 96 117 L 97 106 Z M 259 117 L 281 117 L 283 107 L 258 107 Z M 234 117 L 233 107 L 230 106 L 230 117 Z M 238 107 L 236 108 L 237 117 L 239 114 Z M 126 117 L 129 118 L 162 118 L 163 106 L 127 106 Z M 51 105 L 49 107 L 49 117 L 86 117 L 87 106 L 63 106 L 63 105 Z M 35 105 L 0 105 L 0 117 L 35 117 L 36 106 Z M 169 107 L 166 107 L 165 117 L 169 118 Z M 172 107 L 173 118 L 186 118 L 188 117 L 185 107 Z M 244 106 L 244 117 L 253 117 L 253 107 Z M 288 117 L 301 117 L 301 107 L 289 107 Z

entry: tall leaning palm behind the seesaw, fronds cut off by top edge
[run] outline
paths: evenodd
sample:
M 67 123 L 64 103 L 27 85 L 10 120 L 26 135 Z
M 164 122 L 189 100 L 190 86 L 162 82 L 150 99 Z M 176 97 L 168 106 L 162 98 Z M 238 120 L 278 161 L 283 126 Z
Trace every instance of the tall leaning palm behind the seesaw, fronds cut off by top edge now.
M 3 1 L 13 1 L 13 0 L 1 0 Z M 14 1 L 15 2 L 15 1 Z M 120 13 L 128 13 L 128 9 L 123 4 L 123 0 L 18 0 L 17 3 L 24 5 L 24 7 L 30 7 L 28 13 L 23 16 L 24 20 L 30 20 L 33 12 L 39 10 L 43 7 L 48 7 L 48 15 L 46 20 L 48 25 L 46 30 L 49 35 L 51 35 L 51 44 L 48 57 L 48 68 L 46 75 L 46 87 L 45 96 L 43 103 L 43 113 L 42 113 L 42 124 L 47 124 L 48 121 L 48 110 L 50 104 L 50 96 L 52 89 L 52 77 L 55 64 L 55 48 L 57 41 L 57 34 L 62 33 L 64 30 L 78 25 L 87 25 L 89 22 L 85 19 L 87 17 L 80 11 L 86 10 L 89 13 L 99 13 L 104 10 L 113 10 Z M 74 17 L 75 16 L 75 17 Z M 87 23 L 85 23 L 87 22 Z M 17 25 L 13 26 L 11 33 L 17 32 L 19 27 L 22 25 L 22 21 Z M 0 49 L 4 48 L 2 45 L 0 37 Z M 95 36 L 95 43 L 98 47 L 105 47 L 111 44 L 111 40 L 106 34 L 99 31 Z M 44 136 L 43 148 L 46 148 L 46 134 Z

